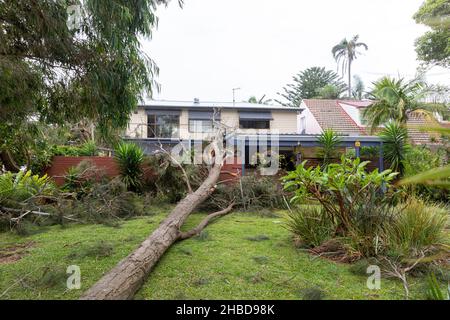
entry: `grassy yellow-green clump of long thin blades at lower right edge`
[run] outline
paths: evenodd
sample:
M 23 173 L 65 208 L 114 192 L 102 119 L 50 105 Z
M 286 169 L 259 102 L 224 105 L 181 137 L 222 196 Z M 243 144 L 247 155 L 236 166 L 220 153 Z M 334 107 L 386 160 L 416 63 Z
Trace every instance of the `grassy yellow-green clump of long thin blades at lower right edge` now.
M 394 222 L 387 228 L 391 254 L 416 257 L 425 249 L 445 241 L 448 211 L 439 205 L 411 199 L 398 206 Z

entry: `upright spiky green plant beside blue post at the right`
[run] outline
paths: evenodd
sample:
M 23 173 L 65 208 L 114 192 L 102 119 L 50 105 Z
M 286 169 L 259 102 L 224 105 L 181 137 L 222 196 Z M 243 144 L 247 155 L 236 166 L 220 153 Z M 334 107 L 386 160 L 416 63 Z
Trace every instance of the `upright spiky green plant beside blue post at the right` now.
M 392 170 L 403 174 L 403 161 L 411 148 L 408 144 L 408 130 L 399 123 L 389 122 L 379 136 L 383 141 L 384 159 L 391 164 Z

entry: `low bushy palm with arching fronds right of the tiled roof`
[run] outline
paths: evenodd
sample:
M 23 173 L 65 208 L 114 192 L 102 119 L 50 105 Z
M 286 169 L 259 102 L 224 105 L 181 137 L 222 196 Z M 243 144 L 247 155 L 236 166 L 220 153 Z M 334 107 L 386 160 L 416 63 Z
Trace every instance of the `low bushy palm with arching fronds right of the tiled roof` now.
M 441 105 L 420 102 L 429 91 L 421 80 L 383 77 L 373 85 L 371 98 L 376 102 L 364 111 L 372 131 L 388 121 L 405 124 L 413 113 L 432 120 L 433 113 L 442 112 Z

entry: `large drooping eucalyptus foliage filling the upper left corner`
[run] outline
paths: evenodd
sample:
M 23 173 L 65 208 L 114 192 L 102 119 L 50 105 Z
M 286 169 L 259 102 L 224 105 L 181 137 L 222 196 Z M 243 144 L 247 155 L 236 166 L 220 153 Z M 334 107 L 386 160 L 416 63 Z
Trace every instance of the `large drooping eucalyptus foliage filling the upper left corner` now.
M 157 88 L 140 39 L 168 1 L 0 1 L 2 158 L 30 121 L 89 119 L 103 136 L 126 127 L 140 96 Z

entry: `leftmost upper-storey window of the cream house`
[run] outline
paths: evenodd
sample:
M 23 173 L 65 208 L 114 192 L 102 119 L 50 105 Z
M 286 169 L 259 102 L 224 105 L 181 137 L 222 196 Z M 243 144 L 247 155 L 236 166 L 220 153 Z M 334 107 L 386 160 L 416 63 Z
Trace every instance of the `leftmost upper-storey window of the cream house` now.
M 180 116 L 148 115 L 148 138 L 178 138 Z

